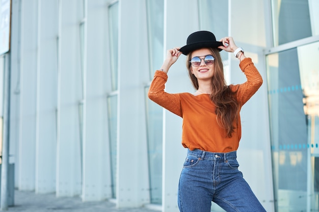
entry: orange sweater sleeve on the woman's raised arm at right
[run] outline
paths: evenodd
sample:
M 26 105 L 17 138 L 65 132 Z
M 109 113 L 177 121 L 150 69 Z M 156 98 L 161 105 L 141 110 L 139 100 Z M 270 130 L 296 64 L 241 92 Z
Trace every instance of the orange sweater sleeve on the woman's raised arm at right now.
M 238 102 L 244 105 L 261 86 L 262 77 L 249 57 L 242 60 L 240 68 L 245 73 L 247 81 L 243 84 L 235 85 L 234 90 L 237 89 Z

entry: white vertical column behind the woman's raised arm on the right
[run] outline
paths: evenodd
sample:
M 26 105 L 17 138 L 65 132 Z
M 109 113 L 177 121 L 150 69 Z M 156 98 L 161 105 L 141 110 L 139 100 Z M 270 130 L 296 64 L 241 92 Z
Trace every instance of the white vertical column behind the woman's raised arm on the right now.
M 245 55 L 252 58 L 263 78 L 262 86 L 241 110 L 242 138 L 237 152 L 238 162 L 240 170 L 261 204 L 267 211 L 274 211 L 267 75 L 263 52 L 267 43 L 270 43 L 265 34 L 270 17 L 264 11 L 264 7 L 269 8 L 269 5 L 262 0 L 251 0 L 243 7 L 240 2 L 231 1 L 230 7 L 230 35 L 237 46 L 244 48 Z M 247 22 L 250 23 L 249 26 L 243 24 Z M 239 68 L 238 59 L 233 55 L 230 56 L 230 64 L 231 83 L 245 82 L 246 77 Z

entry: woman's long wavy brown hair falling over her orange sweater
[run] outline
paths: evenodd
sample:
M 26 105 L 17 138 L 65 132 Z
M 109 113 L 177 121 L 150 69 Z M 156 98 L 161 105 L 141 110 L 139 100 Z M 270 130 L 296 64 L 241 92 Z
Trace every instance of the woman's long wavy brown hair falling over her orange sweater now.
M 224 78 L 224 68 L 219 50 L 216 48 L 208 48 L 211 51 L 212 56 L 215 58 L 215 70 L 214 76 L 211 78 L 211 90 L 209 95 L 211 101 L 216 105 L 215 113 L 219 126 L 226 130 L 227 136 L 230 138 L 234 132 L 235 126 L 233 126 L 234 120 L 238 122 L 239 106 L 234 97 L 234 93 L 227 86 Z M 195 89 L 198 89 L 198 80 L 194 74 L 192 74 L 192 67 L 190 60 L 192 53 L 187 55 L 186 66 L 189 71 L 189 76 Z

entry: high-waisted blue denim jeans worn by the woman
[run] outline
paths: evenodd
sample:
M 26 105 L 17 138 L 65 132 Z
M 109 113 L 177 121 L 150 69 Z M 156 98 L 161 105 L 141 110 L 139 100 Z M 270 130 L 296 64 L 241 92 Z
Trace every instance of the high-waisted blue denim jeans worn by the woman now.
M 238 170 L 236 151 L 188 150 L 178 185 L 181 212 L 210 212 L 211 201 L 227 212 L 265 211 Z

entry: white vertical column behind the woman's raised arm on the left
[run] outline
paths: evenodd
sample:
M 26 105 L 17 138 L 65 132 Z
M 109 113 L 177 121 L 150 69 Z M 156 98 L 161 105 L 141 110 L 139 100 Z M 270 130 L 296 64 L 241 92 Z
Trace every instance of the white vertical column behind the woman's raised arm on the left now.
M 175 46 L 186 45 L 187 37 L 198 31 L 197 1 L 164 1 L 164 50 Z M 178 14 L 177 14 L 178 13 Z M 189 14 L 189 15 L 181 15 Z M 178 24 L 176 24 L 178 23 Z M 185 27 L 187 26 L 187 27 Z M 166 91 L 168 93 L 190 92 L 193 86 L 185 66 L 186 56 L 183 54 L 168 72 Z M 164 58 L 163 58 L 164 61 Z M 168 110 L 164 110 L 163 120 L 163 212 L 178 211 L 177 191 L 180 172 L 186 157 L 186 149 L 181 145 L 182 118 Z

